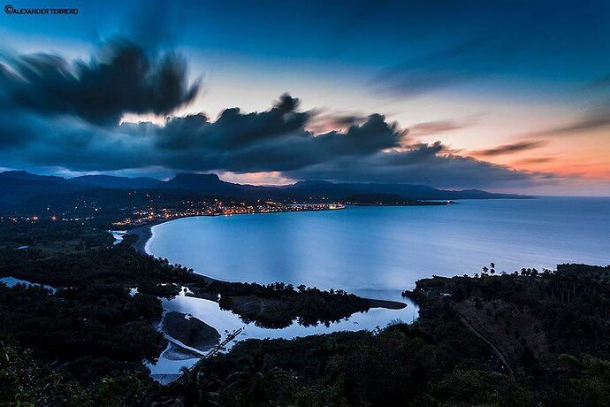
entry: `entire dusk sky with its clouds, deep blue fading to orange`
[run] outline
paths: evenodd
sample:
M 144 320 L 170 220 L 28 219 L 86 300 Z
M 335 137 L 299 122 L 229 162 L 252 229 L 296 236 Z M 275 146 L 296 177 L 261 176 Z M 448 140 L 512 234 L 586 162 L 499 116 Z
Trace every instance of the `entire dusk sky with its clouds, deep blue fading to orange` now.
M 0 168 L 610 196 L 610 3 L 13 0 Z

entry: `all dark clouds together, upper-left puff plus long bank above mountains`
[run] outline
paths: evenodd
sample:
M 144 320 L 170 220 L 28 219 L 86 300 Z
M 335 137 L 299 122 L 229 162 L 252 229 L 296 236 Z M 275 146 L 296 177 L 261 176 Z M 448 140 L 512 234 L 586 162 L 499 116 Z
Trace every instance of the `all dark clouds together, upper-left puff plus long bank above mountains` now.
M 440 142 L 417 142 L 408 129 L 377 113 L 331 118 L 302 111 L 299 99 L 288 94 L 265 111 L 230 107 L 217 119 L 172 116 L 200 94 L 201 81 L 189 78 L 183 56 L 150 55 L 124 39 L 103 43 L 88 61 L 53 54 L 5 57 L 0 164 L 77 172 L 278 172 L 293 179 L 446 188 L 510 188 L 553 179 L 463 157 Z M 166 119 L 121 123 L 128 113 Z M 321 121 L 324 126 L 316 127 Z

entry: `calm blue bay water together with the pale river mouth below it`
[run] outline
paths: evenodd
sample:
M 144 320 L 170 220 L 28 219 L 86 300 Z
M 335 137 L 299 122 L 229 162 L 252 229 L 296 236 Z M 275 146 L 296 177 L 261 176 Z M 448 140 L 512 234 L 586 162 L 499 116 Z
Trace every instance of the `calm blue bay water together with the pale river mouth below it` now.
M 238 339 L 293 338 L 338 330 L 372 329 L 416 318 L 400 297 L 416 280 L 499 271 L 553 268 L 558 263 L 610 263 L 610 198 L 469 200 L 429 207 L 349 207 L 177 219 L 153 227 L 150 254 L 221 280 L 274 281 L 343 288 L 361 296 L 404 301 L 399 310 L 374 309 L 331 326 L 263 329 L 245 326 Z M 164 308 L 225 330 L 244 327 L 217 303 L 179 296 Z M 196 359 L 161 357 L 153 373 L 175 373 Z

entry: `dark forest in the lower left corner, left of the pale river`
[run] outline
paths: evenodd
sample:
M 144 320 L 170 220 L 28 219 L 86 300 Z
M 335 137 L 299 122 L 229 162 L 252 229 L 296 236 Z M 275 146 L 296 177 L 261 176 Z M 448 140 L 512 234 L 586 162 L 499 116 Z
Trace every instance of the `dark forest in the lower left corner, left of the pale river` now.
M 153 327 L 161 312 L 156 297 L 119 288 L 0 284 L 0 405 L 139 405 L 160 394 L 142 360 L 165 347 Z

